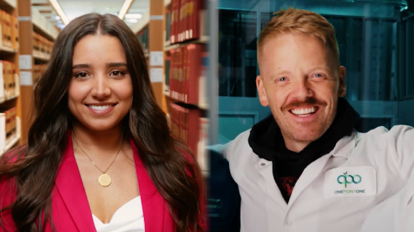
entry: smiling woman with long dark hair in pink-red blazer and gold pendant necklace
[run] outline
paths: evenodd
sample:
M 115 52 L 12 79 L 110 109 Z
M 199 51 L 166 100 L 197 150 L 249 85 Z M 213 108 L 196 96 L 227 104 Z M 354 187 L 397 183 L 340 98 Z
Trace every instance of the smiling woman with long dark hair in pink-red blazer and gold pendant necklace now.
M 1 159 L 3 230 L 203 230 L 197 164 L 171 137 L 118 17 L 87 14 L 61 31 L 28 140 Z

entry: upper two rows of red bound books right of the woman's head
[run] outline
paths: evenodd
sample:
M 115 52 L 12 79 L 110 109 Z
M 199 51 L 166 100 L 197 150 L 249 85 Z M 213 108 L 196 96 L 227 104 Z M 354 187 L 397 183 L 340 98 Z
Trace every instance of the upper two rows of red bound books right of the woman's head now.
M 204 93 L 207 56 L 203 0 L 165 1 L 164 95 L 207 110 Z M 187 9 L 184 11 L 183 9 Z M 193 72 L 193 73 L 192 73 Z

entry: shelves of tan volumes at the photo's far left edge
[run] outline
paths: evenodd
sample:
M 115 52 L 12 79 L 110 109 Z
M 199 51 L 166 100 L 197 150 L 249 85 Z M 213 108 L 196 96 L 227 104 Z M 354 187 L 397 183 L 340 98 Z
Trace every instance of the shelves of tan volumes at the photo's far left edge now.
M 21 137 L 17 104 L 19 85 L 19 21 L 16 0 L 0 0 L 0 155 Z

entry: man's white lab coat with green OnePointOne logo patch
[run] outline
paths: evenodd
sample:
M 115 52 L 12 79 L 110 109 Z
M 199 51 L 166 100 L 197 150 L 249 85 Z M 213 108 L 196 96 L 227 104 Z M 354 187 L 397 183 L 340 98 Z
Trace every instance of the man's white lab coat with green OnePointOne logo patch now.
M 241 194 L 242 232 L 360 231 L 368 213 L 413 176 L 413 127 L 353 132 L 306 167 L 286 204 L 271 162 L 254 154 L 249 134 L 243 132 L 223 149 Z M 345 187 L 345 174 L 358 184 L 348 176 L 352 184 Z

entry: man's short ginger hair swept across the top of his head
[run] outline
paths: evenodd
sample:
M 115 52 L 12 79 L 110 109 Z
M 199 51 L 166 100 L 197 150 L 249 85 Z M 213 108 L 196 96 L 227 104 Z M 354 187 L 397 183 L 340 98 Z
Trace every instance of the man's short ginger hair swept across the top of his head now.
M 263 28 L 258 38 L 258 54 L 268 38 L 274 38 L 278 34 L 286 32 L 304 33 L 319 38 L 330 51 L 330 55 L 335 58 L 335 63 L 340 64 L 338 43 L 332 24 L 320 14 L 293 9 L 293 7 L 273 13 L 273 18 Z

